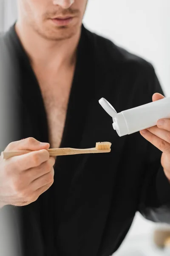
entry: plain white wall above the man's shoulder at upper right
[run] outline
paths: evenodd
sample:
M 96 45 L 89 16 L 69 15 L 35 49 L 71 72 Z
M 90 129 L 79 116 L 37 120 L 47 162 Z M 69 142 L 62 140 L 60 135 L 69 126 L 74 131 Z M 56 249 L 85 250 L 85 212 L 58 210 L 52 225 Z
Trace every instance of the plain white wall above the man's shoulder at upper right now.
M 170 96 L 170 0 L 89 0 L 84 24 L 150 61 Z

